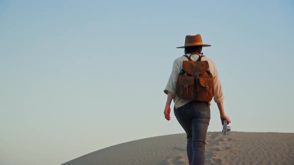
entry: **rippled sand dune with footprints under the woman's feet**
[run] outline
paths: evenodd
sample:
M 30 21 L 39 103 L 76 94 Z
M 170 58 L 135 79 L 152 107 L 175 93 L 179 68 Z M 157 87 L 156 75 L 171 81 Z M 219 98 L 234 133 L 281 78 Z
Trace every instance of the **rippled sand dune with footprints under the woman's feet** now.
M 186 134 L 122 143 L 62 165 L 189 165 Z M 206 165 L 294 165 L 294 133 L 208 132 Z

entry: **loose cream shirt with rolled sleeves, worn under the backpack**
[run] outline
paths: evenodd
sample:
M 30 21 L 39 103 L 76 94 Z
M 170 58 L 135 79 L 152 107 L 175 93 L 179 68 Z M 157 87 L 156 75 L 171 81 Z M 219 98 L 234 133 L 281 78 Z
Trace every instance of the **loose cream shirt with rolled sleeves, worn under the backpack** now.
M 186 55 L 190 56 L 190 54 L 186 54 Z M 193 60 L 193 61 L 196 61 L 198 58 L 199 58 L 198 54 L 191 55 L 191 60 Z M 182 69 L 183 61 L 188 61 L 188 59 L 185 56 L 181 56 L 181 57 L 174 60 L 170 77 L 168 79 L 166 87 L 163 90 L 165 94 L 170 92 L 174 95 L 173 102 L 174 102 L 175 108 L 179 108 L 179 107 L 185 105 L 186 103 L 192 101 L 192 100 L 180 99 L 176 95 L 176 83 L 177 83 L 177 79 L 178 79 L 178 74 L 180 73 L 180 71 Z M 224 99 L 224 95 L 223 95 L 223 91 L 222 91 L 221 82 L 220 82 L 218 74 L 217 74 L 215 63 L 210 58 L 208 58 L 206 56 L 202 57 L 201 61 L 208 62 L 209 71 L 213 76 L 213 80 L 214 80 L 213 81 L 213 83 L 214 83 L 214 97 L 213 97 L 213 99 L 215 102 L 221 102 Z M 211 105 L 211 102 L 209 102 L 209 105 Z

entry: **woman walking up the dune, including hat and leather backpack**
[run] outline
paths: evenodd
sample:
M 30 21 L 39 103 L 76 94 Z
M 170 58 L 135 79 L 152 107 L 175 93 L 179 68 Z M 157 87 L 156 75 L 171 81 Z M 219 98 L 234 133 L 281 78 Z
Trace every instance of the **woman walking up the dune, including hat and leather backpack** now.
M 205 138 L 210 121 L 212 98 L 217 103 L 220 119 L 231 122 L 223 106 L 223 91 L 214 62 L 203 56 L 200 34 L 185 38 L 184 56 L 174 60 L 164 93 L 166 120 L 170 120 L 170 103 L 174 102 L 174 115 L 187 134 L 187 155 L 190 165 L 204 165 Z

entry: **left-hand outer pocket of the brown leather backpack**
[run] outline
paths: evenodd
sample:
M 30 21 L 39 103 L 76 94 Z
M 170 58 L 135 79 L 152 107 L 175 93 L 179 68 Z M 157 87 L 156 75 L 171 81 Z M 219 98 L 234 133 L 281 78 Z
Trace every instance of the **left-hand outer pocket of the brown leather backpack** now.
M 181 99 L 194 99 L 194 77 L 182 77 L 178 78 L 178 97 Z

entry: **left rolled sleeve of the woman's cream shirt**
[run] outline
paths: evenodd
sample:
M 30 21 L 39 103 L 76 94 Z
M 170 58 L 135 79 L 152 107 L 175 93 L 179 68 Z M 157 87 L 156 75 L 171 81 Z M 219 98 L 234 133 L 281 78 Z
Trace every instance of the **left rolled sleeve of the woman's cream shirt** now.
M 176 95 L 176 83 L 177 83 L 179 72 L 180 72 L 180 67 L 179 67 L 178 63 L 176 62 L 176 60 L 174 60 L 169 79 L 168 79 L 167 84 L 163 90 L 163 92 L 165 94 L 170 92 L 173 94 L 173 96 Z

